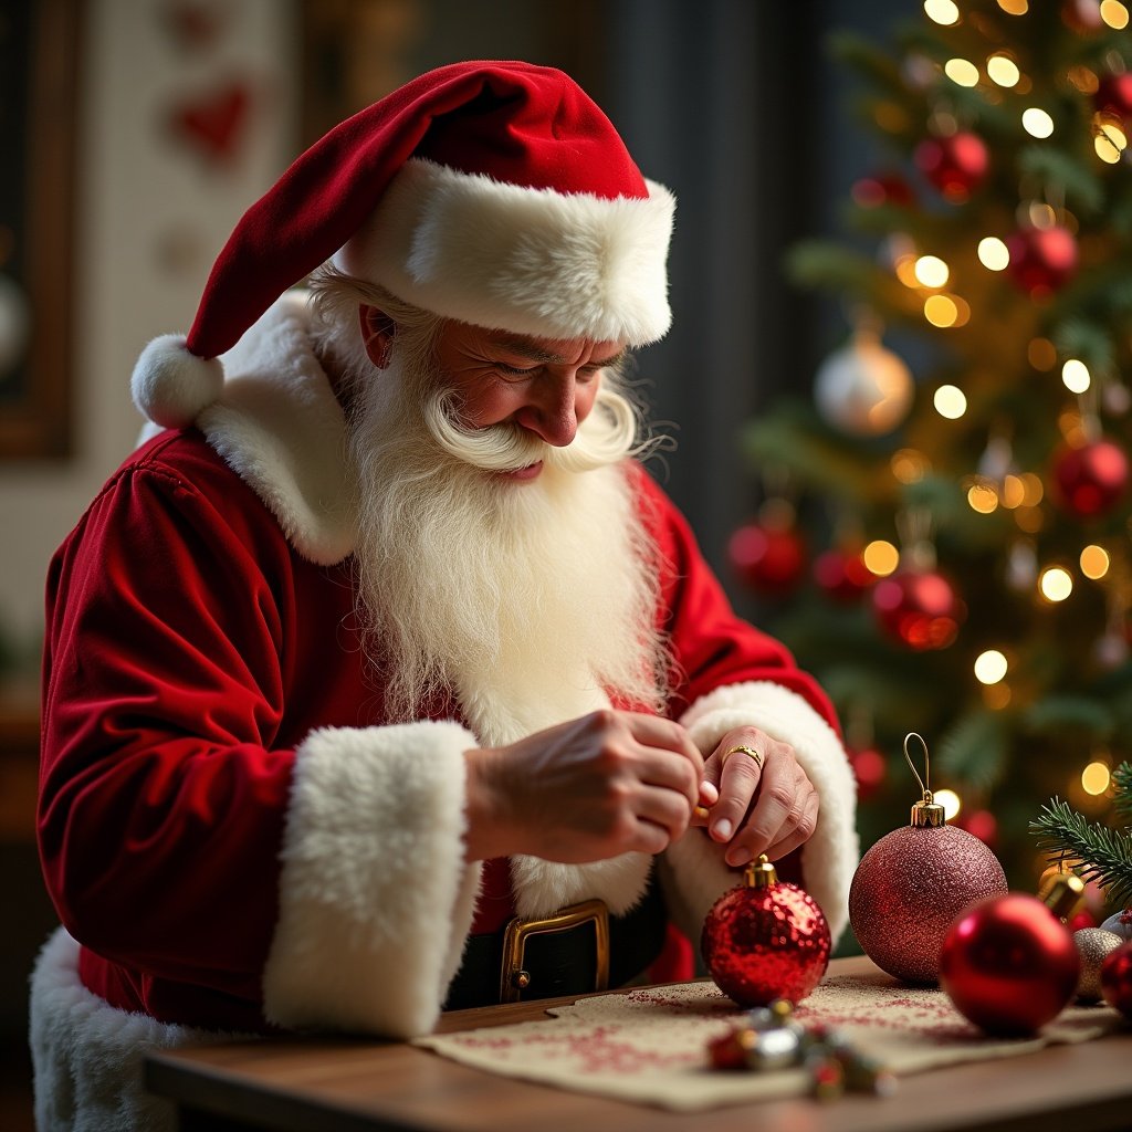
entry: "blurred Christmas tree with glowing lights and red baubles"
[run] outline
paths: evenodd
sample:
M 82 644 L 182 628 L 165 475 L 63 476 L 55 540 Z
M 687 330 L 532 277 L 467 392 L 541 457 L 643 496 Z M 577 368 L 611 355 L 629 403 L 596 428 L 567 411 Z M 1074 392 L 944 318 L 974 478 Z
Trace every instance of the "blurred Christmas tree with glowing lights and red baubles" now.
M 745 430 L 729 557 L 846 723 L 867 847 L 931 784 L 1012 885 L 1050 796 L 1112 820 L 1132 756 L 1132 32 L 1117 0 L 927 0 L 840 35 L 884 161 L 837 239 L 812 395 Z M 765 608 L 762 606 L 765 604 Z

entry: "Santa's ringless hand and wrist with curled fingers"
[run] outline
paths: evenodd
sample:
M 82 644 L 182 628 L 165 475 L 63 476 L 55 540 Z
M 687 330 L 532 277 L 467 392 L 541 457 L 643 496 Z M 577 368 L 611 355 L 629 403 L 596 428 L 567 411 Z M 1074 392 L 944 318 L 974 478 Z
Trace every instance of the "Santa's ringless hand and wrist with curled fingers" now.
M 469 860 L 658 854 L 688 827 L 703 758 L 671 720 L 597 711 L 466 754 Z

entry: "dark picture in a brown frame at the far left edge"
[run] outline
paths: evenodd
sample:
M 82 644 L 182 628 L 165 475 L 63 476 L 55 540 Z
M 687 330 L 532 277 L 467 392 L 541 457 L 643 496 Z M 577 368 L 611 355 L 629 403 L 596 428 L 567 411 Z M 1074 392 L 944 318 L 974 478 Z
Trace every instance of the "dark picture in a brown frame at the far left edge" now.
M 0 461 L 68 455 L 83 0 L 0 0 Z

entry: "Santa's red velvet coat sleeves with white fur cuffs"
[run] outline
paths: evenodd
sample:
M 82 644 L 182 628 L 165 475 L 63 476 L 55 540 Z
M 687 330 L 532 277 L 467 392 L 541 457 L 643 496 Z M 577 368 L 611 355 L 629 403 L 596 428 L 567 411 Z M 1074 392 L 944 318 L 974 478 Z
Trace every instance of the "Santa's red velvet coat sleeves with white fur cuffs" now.
M 325 378 L 305 365 L 305 395 L 315 383 L 333 423 Z M 131 455 L 52 561 L 48 886 L 83 944 L 83 983 L 112 1005 L 204 1027 L 420 1032 L 474 927 L 479 867 L 461 838 L 475 736 L 453 702 L 387 726 L 362 671 L 349 555 L 305 533 L 294 478 L 231 455 L 248 415 L 238 380 L 204 431 Z M 672 714 L 704 751 L 739 722 L 795 744 L 823 796 L 804 883 L 837 933 L 856 839 L 829 704 L 736 618 L 685 521 L 634 474 L 671 564 L 662 616 L 685 674 Z M 734 877 L 700 831 L 684 841 L 666 868 L 694 931 Z M 648 868 L 595 871 L 577 891 L 628 907 Z M 559 891 L 540 897 L 542 874 L 524 876 L 528 907 Z

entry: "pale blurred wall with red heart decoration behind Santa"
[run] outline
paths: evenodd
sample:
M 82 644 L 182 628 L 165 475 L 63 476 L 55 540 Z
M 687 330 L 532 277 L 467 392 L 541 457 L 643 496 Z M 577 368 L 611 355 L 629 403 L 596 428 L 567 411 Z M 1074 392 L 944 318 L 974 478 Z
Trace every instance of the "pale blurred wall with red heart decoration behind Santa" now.
M 0 638 L 25 666 L 38 650 L 49 558 L 137 435 L 139 350 L 188 328 L 232 224 L 294 152 L 289 7 L 198 6 L 214 10 L 212 27 L 185 23 L 191 7 L 79 5 L 74 453 L 0 462 Z M 49 333 L 67 315 L 63 303 L 36 311 Z

